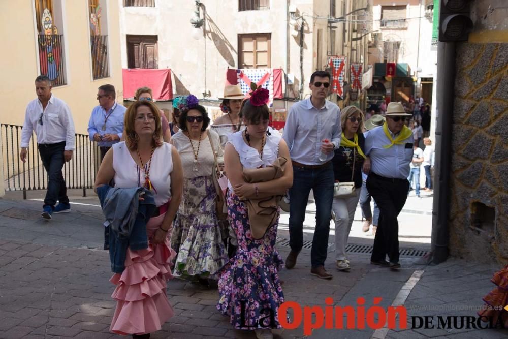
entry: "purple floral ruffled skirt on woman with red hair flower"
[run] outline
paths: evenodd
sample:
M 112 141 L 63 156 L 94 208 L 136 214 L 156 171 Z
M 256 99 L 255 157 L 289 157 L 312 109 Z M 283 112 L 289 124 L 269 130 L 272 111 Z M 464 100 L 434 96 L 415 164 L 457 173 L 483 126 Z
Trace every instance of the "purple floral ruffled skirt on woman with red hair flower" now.
M 278 309 L 284 295 L 278 276 L 283 261 L 275 250 L 277 223 L 263 239 L 253 239 L 246 205 L 231 192 L 227 203 L 238 248 L 220 271 L 217 310 L 229 316 L 236 329 L 280 328 Z

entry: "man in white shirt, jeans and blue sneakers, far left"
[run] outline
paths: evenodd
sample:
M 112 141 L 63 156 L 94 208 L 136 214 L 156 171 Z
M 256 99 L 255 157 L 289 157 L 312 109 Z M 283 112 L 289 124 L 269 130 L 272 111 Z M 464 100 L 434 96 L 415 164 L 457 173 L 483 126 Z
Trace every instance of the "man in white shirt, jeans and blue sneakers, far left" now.
M 49 178 L 41 216 L 49 220 L 52 213 L 71 210 L 62 167 L 72 159 L 75 129 L 69 106 L 51 94 L 51 80 L 40 75 L 35 79 L 35 88 L 38 99 L 30 101 L 26 107 L 19 157 L 22 162 L 26 161 L 27 148 L 35 131 L 39 154 Z M 56 201 L 59 204 L 55 207 Z

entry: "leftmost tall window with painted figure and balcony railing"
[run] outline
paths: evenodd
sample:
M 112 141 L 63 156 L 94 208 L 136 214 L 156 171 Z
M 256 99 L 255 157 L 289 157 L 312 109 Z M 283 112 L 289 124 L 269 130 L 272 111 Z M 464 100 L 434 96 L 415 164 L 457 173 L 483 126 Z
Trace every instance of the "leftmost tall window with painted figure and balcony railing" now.
M 53 87 L 67 84 L 62 0 L 34 0 L 39 69 Z

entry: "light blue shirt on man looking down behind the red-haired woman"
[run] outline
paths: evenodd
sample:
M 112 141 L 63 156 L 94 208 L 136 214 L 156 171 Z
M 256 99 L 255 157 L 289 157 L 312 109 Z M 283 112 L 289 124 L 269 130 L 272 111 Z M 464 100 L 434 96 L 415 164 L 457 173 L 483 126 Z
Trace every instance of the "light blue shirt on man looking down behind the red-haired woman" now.
M 90 140 L 93 141 L 93 136 L 96 133 L 99 133 L 100 136 L 105 134 L 116 134 L 121 139 L 123 132 L 123 116 L 125 115 L 126 110 L 125 106 L 118 103 L 115 103 L 107 113 L 101 106 L 94 107 L 92 115 L 90 116 L 90 121 L 88 121 L 88 134 L 90 136 Z M 103 126 L 106 126 L 104 130 Z M 98 144 L 101 147 L 111 147 L 117 142 L 118 140 L 108 142 L 99 141 Z

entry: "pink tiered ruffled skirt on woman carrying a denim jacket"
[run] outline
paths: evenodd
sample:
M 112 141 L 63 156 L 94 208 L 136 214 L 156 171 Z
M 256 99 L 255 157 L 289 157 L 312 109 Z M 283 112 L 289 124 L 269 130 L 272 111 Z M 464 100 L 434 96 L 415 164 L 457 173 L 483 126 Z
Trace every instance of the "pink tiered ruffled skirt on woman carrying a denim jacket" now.
M 127 250 L 125 270 L 115 273 L 110 282 L 116 285 L 112 294 L 117 300 L 110 331 L 118 334 L 144 334 L 161 329 L 174 314 L 166 296 L 166 281 L 173 278 L 170 232 L 164 243 L 153 244 L 151 236 L 161 226 L 164 215 L 150 218 L 146 225 L 148 248 Z

